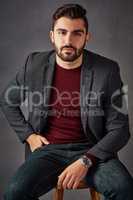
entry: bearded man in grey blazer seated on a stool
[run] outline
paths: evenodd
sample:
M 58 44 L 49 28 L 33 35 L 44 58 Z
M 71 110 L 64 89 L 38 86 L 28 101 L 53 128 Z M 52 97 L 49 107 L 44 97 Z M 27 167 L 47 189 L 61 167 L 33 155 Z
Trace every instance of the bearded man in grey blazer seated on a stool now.
M 55 50 L 30 54 L 1 96 L 28 155 L 4 198 L 35 200 L 85 179 L 106 199 L 131 200 L 133 179 L 117 155 L 130 136 L 118 64 L 84 49 L 90 33 L 80 5 L 56 10 L 50 38 Z

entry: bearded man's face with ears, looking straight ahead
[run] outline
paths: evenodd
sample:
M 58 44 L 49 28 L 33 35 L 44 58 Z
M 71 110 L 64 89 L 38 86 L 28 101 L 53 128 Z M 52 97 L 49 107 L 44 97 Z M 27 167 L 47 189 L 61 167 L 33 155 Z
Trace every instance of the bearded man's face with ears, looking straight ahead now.
M 61 17 L 50 31 L 50 38 L 56 54 L 67 62 L 73 62 L 83 53 L 84 46 L 89 39 L 82 19 Z

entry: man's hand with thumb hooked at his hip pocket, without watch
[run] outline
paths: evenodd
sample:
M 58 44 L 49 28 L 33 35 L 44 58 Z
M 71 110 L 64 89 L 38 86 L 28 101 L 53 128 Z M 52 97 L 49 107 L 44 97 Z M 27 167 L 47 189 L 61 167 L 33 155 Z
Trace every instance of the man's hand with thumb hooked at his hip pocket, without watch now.
M 41 136 L 41 135 L 37 135 L 36 133 L 31 134 L 27 140 L 28 144 L 30 145 L 30 149 L 33 152 L 35 149 L 43 146 L 43 144 L 49 144 L 49 141 Z

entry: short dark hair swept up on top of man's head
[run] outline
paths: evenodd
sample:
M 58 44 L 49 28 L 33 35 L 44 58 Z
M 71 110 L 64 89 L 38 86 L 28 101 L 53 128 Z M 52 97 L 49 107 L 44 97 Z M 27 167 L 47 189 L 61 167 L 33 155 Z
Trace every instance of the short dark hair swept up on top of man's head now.
M 88 20 L 86 10 L 79 4 L 64 4 L 59 7 L 53 14 L 52 29 L 54 29 L 56 21 L 61 17 L 70 19 L 82 19 L 85 24 L 86 32 L 88 32 Z

